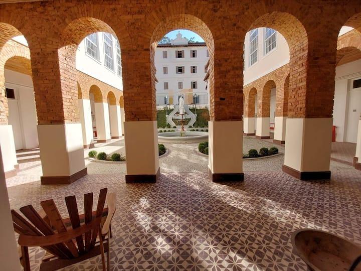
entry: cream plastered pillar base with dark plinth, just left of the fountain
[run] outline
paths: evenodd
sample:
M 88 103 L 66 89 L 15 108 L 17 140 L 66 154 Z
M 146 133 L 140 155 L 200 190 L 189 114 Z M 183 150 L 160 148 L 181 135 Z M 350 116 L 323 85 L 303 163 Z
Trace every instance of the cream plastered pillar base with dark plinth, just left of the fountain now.
M 125 121 L 125 180 L 155 182 L 159 176 L 157 121 Z

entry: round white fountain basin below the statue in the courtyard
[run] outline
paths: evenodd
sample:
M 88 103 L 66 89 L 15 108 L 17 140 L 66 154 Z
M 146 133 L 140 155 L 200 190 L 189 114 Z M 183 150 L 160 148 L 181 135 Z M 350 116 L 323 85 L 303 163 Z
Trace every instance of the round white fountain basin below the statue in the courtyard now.
M 180 131 L 158 133 L 158 142 L 160 143 L 198 143 L 204 141 L 208 141 L 208 132 L 186 131 L 185 137 L 180 136 Z

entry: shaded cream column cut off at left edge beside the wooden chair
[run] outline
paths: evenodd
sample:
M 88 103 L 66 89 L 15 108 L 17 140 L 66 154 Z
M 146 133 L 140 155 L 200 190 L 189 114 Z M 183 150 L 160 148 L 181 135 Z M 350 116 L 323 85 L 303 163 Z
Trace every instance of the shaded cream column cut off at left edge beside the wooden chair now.
M 0 139 L 1 138 L 2 134 L 0 134 Z M 23 270 L 20 265 L 13 220 L 10 211 L 8 189 L 5 181 L 3 160 L 7 159 L 3 158 L 3 149 L 2 146 L 0 146 L 0 227 L 2 229 L 0 233 L 0 238 L 2 240 L 0 262 L 2 264 L 2 270 Z

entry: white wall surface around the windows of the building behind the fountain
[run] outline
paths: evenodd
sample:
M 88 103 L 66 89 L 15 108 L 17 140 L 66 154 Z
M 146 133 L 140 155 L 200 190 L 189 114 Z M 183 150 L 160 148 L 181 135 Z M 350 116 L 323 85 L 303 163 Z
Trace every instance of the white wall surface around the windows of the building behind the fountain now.
M 175 51 L 184 50 L 184 58 L 176 58 Z M 197 50 L 197 57 L 191 58 L 191 50 Z M 163 58 L 163 51 L 167 51 L 167 58 Z M 193 89 L 193 94 L 208 93 L 207 83 L 203 80 L 206 76 L 205 65 L 207 57 L 207 46 L 172 46 L 157 47 L 155 50 L 154 64 L 156 68 L 155 84 L 156 94 L 168 95 L 173 92 L 173 102 L 176 102 L 177 95 L 181 91 L 178 89 L 178 82 L 183 82 L 183 89 L 190 89 L 191 82 L 197 81 L 197 89 Z M 168 74 L 163 74 L 163 67 L 168 67 Z M 185 66 L 185 73 L 177 74 L 175 68 Z M 191 66 L 197 66 L 197 73 L 191 73 Z M 164 90 L 164 82 L 168 82 L 168 90 Z

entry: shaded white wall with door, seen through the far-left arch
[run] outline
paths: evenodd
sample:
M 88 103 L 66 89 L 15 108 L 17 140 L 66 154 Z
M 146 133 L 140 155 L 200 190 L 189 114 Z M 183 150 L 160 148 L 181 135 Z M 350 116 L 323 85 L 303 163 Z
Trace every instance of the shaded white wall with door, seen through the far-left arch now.
M 31 76 L 5 70 L 5 86 L 15 90 L 16 99 L 9 99 L 8 103 L 9 124 L 13 125 L 17 149 L 32 149 L 38 147 L 38 120 Z M 17 112 L 17 115 L 12 115 Z M 18 142 L 19 140 L 21 143 Z

